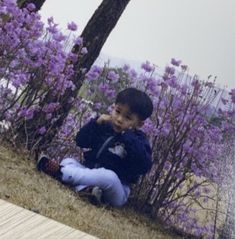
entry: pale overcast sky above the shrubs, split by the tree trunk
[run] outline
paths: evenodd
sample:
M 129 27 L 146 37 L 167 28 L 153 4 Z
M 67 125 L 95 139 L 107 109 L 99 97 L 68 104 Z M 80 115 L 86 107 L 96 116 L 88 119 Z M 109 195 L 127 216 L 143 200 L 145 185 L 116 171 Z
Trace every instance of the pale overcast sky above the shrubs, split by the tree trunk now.
M 81 33 L 101 0 L 47 0 L 50 16 L 65 28 L 74 21 Z M 217 76 L 235 88 L 235 0 L 131 0 L 102 53 L 164 67 L 172 57 L 202 79 Z

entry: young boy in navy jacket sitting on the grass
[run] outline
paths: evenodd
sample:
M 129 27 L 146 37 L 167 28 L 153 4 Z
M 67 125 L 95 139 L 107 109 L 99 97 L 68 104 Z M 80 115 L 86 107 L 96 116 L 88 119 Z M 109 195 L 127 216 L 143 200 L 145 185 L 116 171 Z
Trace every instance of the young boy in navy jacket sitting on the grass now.
M 151 168 L 151 148 L 139 130 L 150 117 L 153 104 L 149 96 L 135 88 L 121 91 L 111 115 L 91 119 L 76 136 L 84 152 L 84 165 L 72 158 L 60 163 L 41 156 L 37 168 L 63 183 L 75 187 L 98 187 L 103 200 L 112 206 L 127 202 L 130 185 Z

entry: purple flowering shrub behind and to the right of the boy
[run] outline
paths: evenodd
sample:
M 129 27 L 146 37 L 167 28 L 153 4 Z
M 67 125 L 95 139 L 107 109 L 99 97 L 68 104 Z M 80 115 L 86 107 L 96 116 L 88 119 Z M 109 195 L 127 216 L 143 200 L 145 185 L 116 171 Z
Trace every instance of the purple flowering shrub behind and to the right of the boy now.
M 207 205 L 216 196 L 211 183 L 222 178 L 225 143 L 234 135 L 233 101 L 213 82 L 189 76 L 180 61 L 173 59 L 163 75 L 149 62 L 141 68 L 138 74 L 128 66 L 93 66 L 81 95 L 92 101 L 90 108 L 97 113 L 108 113 L 117 92 L 127 86 L 151 96 L 154 112 L 142 129 L 151 141 L 154 165 L 135 188 L 133 203 L 142 209 L 149 205 L 151 213 L 169 225 L 211 238 L 214 225 L 200 224 L 196 215 L 201 207 L 190 205 Z

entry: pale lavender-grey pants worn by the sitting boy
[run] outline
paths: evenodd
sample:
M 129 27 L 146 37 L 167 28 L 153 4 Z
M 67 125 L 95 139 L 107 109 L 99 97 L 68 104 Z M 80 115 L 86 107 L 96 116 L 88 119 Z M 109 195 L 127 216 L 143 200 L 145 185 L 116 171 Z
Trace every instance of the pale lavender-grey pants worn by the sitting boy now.
M 61 161 L 62 181 L 73 185 L 76 191 L 86 186 L 97 186 L 103 191 L 105 202 L 122 206 L 127 202 L 130 188 L 121 183 L 117 174 L 105 168 L 89 169 L 73 158 Z

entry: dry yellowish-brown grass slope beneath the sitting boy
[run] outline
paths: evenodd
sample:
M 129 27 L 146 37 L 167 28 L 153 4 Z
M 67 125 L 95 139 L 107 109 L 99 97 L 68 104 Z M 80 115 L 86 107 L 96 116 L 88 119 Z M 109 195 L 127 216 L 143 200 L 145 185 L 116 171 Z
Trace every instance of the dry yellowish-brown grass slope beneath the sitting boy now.
M 0 198 L 73 228 L 107 239 L 179 238 L 124 206 L 96 207 L 35 169 L 27 153 L 0 146 Z

